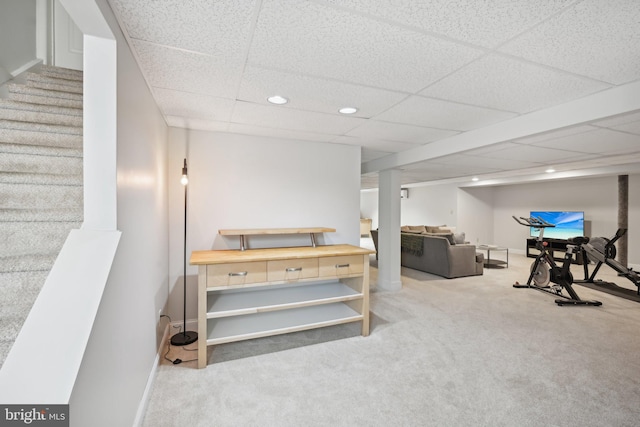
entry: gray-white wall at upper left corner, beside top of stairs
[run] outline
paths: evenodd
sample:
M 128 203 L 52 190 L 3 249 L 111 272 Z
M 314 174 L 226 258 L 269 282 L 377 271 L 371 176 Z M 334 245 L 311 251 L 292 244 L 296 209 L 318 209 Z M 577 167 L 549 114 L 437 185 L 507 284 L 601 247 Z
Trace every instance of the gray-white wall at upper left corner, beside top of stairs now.
M 0 3 L 0 83 L 36 58 L 35 0 Z M 4 72 L 3 72 L 4 68 Z

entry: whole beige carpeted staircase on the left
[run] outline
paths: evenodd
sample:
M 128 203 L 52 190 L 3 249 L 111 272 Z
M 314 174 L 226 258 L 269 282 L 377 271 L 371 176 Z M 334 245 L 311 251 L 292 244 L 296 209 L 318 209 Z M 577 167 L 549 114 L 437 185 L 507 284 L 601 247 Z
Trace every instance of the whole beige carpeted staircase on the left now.
M 82 224 L 82 72 L 42 65 L 0 95 L 1 366 Z

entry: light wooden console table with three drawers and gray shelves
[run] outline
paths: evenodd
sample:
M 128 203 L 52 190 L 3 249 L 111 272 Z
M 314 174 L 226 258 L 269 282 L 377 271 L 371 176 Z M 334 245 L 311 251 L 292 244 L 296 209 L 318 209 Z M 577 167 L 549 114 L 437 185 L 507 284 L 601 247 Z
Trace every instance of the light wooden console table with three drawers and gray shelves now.
M 194 251 L 198 368 L 209 345 L 348 322 L 369 335 L 372 253 L 351 245 Z

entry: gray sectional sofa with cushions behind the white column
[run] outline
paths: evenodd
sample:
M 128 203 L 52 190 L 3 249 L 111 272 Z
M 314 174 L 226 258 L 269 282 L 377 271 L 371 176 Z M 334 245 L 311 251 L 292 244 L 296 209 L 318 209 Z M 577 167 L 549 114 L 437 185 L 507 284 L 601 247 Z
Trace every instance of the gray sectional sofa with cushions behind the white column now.
M 378 250 L 378 230 L 371 230 Z M 470 244 L 455 244 L 451 233 L 401 233 L 400 263 L 426 273 L 453 279 L 483 274 L 484 255 Z

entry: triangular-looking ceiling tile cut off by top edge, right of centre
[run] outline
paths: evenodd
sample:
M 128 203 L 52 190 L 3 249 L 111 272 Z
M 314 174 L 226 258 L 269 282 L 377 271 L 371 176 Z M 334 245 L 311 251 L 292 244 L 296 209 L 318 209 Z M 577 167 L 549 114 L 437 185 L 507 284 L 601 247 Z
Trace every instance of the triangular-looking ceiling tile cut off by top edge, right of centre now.
M 495 47 L 574 0 L 324 0 L 378 19 L 420 28 L 467 43 Z

